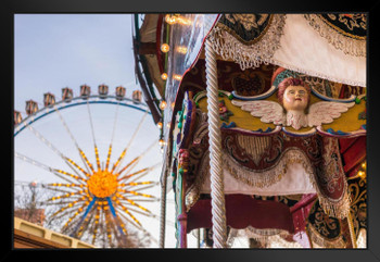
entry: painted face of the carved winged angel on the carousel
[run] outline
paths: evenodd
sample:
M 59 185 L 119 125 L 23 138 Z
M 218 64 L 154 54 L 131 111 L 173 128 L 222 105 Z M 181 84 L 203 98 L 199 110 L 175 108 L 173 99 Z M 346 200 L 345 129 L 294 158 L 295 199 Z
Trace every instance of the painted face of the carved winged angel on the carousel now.
M 308 93 L 303 86 L 288 86 L 282 105 L 287 111 L 304 111 L 308 104 Z

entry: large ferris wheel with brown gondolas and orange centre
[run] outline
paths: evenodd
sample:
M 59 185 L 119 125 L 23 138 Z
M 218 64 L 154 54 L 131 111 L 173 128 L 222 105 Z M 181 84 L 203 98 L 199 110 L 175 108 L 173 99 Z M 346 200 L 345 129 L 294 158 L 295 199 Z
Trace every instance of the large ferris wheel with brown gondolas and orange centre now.
M 38 182 L 53 192 L 40 200 L 54 207 L 61 233 L 103 247 L 127 247 L 131 232 L 156 242 L 159 234 L 159 129 L 141 91 L 126 98 L 80 86 L 62 89 L 62 100 L 43 95 L 43 107 L 26 101 L 27 117 L 14 112 L 14 180 Z M 102 244 L 100 244 L 102 242 Z

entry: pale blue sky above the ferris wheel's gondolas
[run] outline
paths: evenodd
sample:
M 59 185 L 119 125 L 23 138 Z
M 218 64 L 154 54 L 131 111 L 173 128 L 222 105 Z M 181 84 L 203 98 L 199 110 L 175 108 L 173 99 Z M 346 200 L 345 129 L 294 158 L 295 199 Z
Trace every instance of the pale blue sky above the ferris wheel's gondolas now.
M 136 89 L 128 14 L 17 14 L 15 15 L 14 108 L 25 112 L 25 101 L 42 104 L 45 92 L 61 100 L 61 89 L 78 93 L 87 84 L 110 92 L 123 85 Z

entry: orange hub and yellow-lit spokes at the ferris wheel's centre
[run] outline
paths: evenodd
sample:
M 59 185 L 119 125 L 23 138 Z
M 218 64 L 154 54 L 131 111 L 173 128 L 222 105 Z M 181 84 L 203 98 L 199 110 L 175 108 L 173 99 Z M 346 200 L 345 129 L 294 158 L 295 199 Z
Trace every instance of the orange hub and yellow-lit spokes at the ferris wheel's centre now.
M 123 236 L 126 236 L 127 229 L 125 224 L 128 223 L 138 229 L 142 228 L 142 223 L 135 213 L 152 216 L 152 212 L 139 204 L 139 199 L 136 199 L 136 197 L 155 199 L 154 196 L 140 191 L 156 185 L 156 183 L 139 180 L 152 171 L 154 166 L 132 172 L 142 155 L 138 155 L 129 161 L 124 167 L 119 166 L 126 155 L 126 149 L 123 150 L 111 170 L 109 170 L 112 153 L 111 146 L 104 169 L 101 169 L 99 150 L 96 146 L 96 165 L 89 162 L 83 150 L 80 150 L 80 157 L 86 166 L 80 166 L 74 160 L 66 159 L 73 170 L 80 171 L 83 175 L 73 175 L 66 171 L 54 170 L 56 174 L 74 180 L 68 184 L 52 183 L 48 185 L 52 190 L 64 192 L 48 200 L 48 202 L 53 202 L 61 207 L 53 214 L 54 216 L 67 217 L 66 223 L 62 227 L 64 234 L 81 238 L 88 232 L 87 236 L 92 236 L 92 244 L 103 235 L 106 236 L 112 247 L 114 246 L 113 241 L 121 241 Z M 98 166 L 98 169 L 94 170 L 93 166 Z M 85 171 L 87 167 L 89 167 L 88 172 Z M 121 167 L 119 171 L 118 167 Z M 134 208 L 138 210 L 134 210 Z M 102 224 L 103 226 L 101 226 Z

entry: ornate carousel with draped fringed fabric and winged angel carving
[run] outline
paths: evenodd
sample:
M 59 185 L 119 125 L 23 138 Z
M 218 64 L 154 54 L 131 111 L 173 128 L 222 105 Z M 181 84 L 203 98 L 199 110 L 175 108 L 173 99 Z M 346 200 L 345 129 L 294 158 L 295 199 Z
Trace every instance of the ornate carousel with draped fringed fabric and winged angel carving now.
M 135 24 L 178 248 L 366 248 L 366 14 Z

